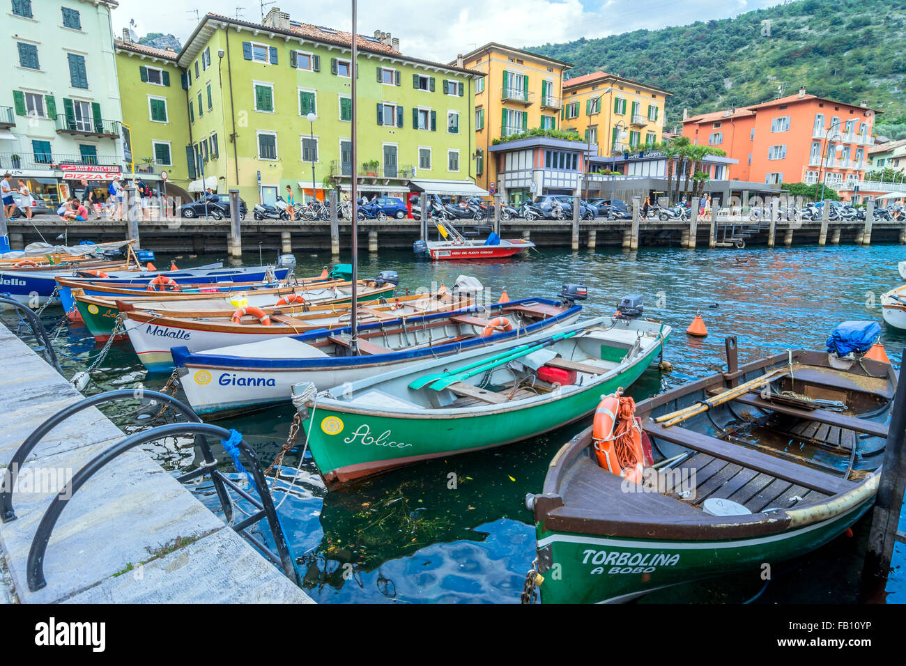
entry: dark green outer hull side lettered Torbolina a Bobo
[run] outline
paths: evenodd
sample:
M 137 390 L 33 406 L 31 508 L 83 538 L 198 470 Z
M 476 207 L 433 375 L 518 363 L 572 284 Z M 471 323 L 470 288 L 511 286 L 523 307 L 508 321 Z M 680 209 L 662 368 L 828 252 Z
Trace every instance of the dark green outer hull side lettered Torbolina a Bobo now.
M 839 516 L 779 534 L 719 541 L 602 537 L 536 528 L 539 561 L 560 565 L 545 573 L 542 603 L 618 603 L 671 585 L 718 574 L 757 572 L 762 565 L 810 553 L 853 526 L 874 497 Z M 754 580 L 754 578 L 753 578 Z

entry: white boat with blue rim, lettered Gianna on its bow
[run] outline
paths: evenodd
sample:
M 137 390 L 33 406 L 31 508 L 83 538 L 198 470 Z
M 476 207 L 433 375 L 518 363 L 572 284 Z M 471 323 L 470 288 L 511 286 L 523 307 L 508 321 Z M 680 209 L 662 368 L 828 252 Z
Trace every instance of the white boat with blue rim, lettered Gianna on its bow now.
M 326 389 L 406 363 L 530 339 L 574 323 L 581 312 L 581 305 L 565 297 L 563 301 L 523 298 L 365 323 L 358 328 L 357 355 L 350 350 L 349 326 L 204 352 L 189 352 L 186 346 L 172 347 L 170 352 L 192 409 L 198 414 L 236 413 L 287 402 L 293 384 L 301 381 Z

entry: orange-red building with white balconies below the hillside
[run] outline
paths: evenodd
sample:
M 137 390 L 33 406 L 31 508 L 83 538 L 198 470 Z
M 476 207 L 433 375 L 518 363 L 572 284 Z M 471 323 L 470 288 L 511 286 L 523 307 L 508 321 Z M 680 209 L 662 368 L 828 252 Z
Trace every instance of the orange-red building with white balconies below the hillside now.
M 683 120 L 683 136 L 738 160 L 729 178 L 767 184 L 824 179 L 843 198 L 870 168 L 874 116 L 867 102 L 847 104 L 805 94 Z M 849 191 L 847 191 L 849 190 Z

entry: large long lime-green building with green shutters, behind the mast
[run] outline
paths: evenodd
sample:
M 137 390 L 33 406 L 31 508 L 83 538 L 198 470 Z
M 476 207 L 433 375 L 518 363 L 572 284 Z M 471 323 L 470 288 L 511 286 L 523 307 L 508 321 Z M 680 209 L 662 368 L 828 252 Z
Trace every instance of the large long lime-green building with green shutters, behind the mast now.
M 188 92 L 188 189 L 238 187 L 249 206 L 285 197 L 287 186 L 297 200 L 348 189 L 352 76 L 362 191 L 399 195 L 415 178 L 474 183 L 474 86 L 483 74 L 404 55 L 380 31 L 358 35 L 355 67 L 351 47 L 350 33 L 276 8 L 264 24 L 205 15 L 177 56 Z M 181 137 L 171 140 L 174 162 Z

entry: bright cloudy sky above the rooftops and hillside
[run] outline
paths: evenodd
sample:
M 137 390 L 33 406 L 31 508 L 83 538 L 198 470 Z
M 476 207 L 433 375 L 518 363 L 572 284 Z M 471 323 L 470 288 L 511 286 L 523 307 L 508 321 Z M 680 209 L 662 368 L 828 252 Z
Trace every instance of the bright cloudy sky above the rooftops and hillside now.
M 260 0 L 259 0 L 260 2 Z M 360 0 L 359 33 L 375 30 L 400 37 L 400 49 L 415 57 L 448 62 L 457 53 L 495 41 L 513 46 L 602 37 L 639 28 L 727 18 L 781 0 Z M 237 9 L 236 5 L 246 5 Z M 349 0 L 328 3 L 277 0 L 292 20 L 350 29 Z M 213 12 L 260 22 L 259 3 L 241 0 L 120 0 L 113 12 L 115 34 L 134 20 L 137 34 L 175 34 L 184 41 L 200 14 Z M 269 7 L 265 7 L 265 13 Z

